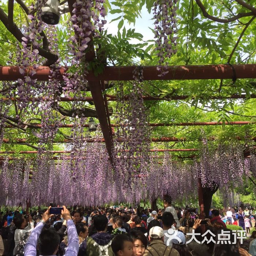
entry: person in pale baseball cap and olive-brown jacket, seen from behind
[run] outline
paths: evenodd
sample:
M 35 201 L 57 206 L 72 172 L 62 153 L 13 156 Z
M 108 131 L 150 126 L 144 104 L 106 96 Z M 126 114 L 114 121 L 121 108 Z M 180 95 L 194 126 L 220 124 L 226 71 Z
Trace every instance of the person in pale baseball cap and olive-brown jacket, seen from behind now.
M 147 246 L 144 256 L 180 256 L 177 250 L 163 243 L 164 233 L 161 227 L 151 227 L 148 239 L 150 244 Z

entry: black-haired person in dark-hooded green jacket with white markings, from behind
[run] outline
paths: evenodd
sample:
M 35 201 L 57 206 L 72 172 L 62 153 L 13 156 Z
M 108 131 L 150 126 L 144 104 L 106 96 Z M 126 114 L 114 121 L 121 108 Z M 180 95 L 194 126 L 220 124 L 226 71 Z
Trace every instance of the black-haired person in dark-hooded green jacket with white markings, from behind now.
M 94 218 L 93 223 L 97 233 L 86 239 L 86 256 L 98 256 L 100 252 L 101 255 L 114 256 L 111 249 L 113 235 L 106 233 L 108 218 L 106 215 L 98 215 Z

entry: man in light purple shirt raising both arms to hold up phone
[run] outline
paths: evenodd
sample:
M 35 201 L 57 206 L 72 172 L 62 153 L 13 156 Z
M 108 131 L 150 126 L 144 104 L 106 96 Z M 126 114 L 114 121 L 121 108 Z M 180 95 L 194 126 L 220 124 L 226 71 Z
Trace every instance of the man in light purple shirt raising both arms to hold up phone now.
M 67 210 L 65 206 L 63 206 L 61 215 L 63 219 L 67 221 L 67 230 L 68 230 L 68 246 L 65 251 L 65 255 L 77 256 L 78 249 L 79 249 L 78 235 L 76 232 L 75 224 L 71 219 L 70 212 Z M 60 243 L 59 234 L 57 234 L 57 232 L 53 229 L 46 229 L 42 231 L 45 225 L 45 222 L 47 222 L 49 218 L 52 216 L 53 214 L 50 214 L 50 207 L 49 207 L 47 211 L 44 212 L 44 214 L 42 215 L 41 221 L 37 223 L 37 226 L 31 232 L 29 240 L 24 246 L 25 256 L 36 256 L 37 248 L 39 251 L 39 255 L 42 255 L 42 256 L 56 255 L 59 248 L 59 243 Z

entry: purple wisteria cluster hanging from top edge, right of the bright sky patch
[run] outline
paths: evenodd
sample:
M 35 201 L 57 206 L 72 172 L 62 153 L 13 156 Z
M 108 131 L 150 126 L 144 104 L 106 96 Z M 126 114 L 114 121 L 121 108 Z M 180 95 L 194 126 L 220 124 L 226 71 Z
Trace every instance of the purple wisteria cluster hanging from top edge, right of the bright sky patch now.
M 156 0 L 154 3 L 154 25 L 155 38 L 157 43 L 157 56 L 159 57 L 159 65 L 157 69 L 161 71 L 159 76 L 164 76 L 170 58 L 177 52 L 176 39 L 176 3 L 178 0 Z

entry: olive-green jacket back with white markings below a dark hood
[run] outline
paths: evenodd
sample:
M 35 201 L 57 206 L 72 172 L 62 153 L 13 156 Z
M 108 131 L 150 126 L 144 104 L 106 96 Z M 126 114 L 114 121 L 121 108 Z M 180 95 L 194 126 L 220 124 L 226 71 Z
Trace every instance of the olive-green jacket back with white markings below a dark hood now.
M 112 240 L 105 245 L 99 245 L 91 237 L 87 237 L 87 256 L 114 256 L 114 253 L 111 248 Z

